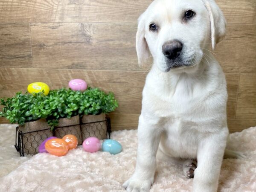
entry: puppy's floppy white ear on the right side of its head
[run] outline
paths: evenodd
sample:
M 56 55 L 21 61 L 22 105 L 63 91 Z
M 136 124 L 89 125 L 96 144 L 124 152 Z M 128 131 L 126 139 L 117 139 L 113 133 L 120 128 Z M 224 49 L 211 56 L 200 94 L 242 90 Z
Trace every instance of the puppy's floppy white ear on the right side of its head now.
M 204 0 L 204 3 L 210 17 L 212 49 L 214 49 L 215 44 L 218 44 L 225 37 L 226 20 L 214 0 Z

